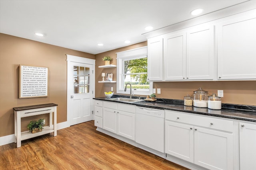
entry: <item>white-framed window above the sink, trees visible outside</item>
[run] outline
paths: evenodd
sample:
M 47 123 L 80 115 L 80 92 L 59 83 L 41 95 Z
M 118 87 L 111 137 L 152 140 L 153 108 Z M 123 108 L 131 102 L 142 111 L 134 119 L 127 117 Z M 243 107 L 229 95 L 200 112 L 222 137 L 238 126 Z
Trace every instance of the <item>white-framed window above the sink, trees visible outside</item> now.
M 130 94 L 130 90 L 124 92 L 126 83 L 130 83 L 133 94 L 150 94 L 152 83 L 147 81 L 147 47 L 117 53 L 117 75 L 117 93 Z

